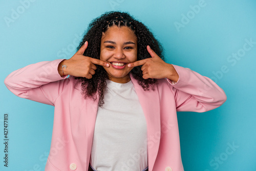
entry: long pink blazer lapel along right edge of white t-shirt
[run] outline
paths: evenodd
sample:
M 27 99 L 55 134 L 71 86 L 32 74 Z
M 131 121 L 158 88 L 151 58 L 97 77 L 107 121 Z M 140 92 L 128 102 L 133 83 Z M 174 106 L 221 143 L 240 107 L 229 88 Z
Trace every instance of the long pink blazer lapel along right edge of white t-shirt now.
M 144 91 L 131 73 L 130 78 L 134 84 L 135 91 L 146 118 L 148 170 L 152 171 L 158 154 L 161 137 L 159 93 L 157 86 L 155 86 L 155 91 Z

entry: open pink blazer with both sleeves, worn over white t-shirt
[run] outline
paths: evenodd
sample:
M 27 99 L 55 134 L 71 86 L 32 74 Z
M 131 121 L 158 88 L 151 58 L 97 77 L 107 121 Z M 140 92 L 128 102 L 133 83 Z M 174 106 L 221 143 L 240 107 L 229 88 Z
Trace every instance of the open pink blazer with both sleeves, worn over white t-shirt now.
M 84 171 L 89 166 L 98 101 L 85 100 L 80 85 L 74 88 L 74 77 L 59 76 L 60 61 L 20 68 L 5 79 L 5 84 L 19 97 L 55 106 L 45 170 Z M 226 101 L 225 92 L 214 81 L 189 68 L 174 67 L 178 82 L 159 79 L 155 91 L 144 91 L 130 74 L 147 123 L 149 171 L 184 170 L 176 111 L 205 112 Z M 131 156 L 131 160 L 135 158 Z

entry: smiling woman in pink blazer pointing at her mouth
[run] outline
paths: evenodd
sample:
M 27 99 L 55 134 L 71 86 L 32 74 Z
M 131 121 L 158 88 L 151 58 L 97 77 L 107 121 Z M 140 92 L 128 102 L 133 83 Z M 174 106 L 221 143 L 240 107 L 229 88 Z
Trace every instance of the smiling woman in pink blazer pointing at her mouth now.
M 176 111 L 226 101 L 209 78 L 165 63 L 153 34 L 123 12 L 94 19 L 72 58 L 28 65 L 5 84 L 55 106 L 47 171 L 184 170 Z

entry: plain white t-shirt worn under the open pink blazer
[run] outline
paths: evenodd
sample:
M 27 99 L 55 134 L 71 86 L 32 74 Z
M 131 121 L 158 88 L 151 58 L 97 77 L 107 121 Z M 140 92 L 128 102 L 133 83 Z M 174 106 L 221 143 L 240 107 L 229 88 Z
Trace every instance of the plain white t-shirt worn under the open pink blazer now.
M 132 81 L 107 81 L 90 164 L 98 171 L 139 171 L 148 166 L 146 120 Z

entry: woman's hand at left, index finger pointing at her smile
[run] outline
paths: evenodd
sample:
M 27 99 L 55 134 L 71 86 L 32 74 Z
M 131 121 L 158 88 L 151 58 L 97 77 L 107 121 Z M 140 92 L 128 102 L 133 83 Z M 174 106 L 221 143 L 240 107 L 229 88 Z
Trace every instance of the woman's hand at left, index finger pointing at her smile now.
M 64 75 L 71 75 L 75 77 L 85 77 L 91 79 L 95 74 L 96 65 L 109 67 L 110 64 L 99 59 L 83 56 L 84 51 L 88 47 L 88 41 L 86 41 L 81 48 L 68 60 L 63 60 L 63 65 L 67 65 L 67 68 L 63 67 Z M 63 76 L 62 65 L 59 63 L 58 71 L 60 76 Z

